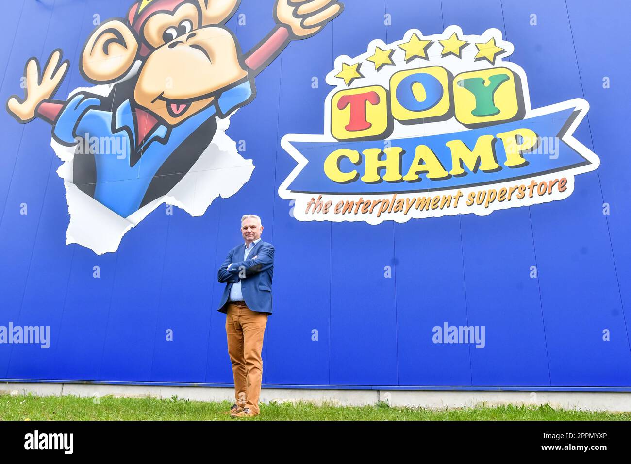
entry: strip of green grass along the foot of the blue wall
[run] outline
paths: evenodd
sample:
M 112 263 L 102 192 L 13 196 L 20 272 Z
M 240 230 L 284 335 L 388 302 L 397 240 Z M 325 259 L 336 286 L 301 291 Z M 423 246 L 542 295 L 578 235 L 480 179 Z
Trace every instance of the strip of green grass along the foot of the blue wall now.
M 237 420 L 224 412 L 232 403 L 155 398 L 0 395 L 0 420 Z M 543 406 L 475 407 L 452 410 L 315 406 L 310 403 L 261 405 L 247 420 L 631 420 L 631 413 L 586 412 Z

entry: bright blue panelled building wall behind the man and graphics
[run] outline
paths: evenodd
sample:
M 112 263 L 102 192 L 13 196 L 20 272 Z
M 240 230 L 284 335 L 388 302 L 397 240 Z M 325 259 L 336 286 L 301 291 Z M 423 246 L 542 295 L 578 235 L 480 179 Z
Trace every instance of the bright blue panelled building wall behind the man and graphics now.
M 256 99 L 232 116 L 227 134 L 247 142 L 242 155 L 256 165 L 239 193 L 216 199 L 198 218 L 160 207 L 102 256 L 65 244 L 68 206 L 50 126 L 21 126 L 0 111 L 0 324 L 50 326 L 52 338 L 49 349 L 0 345 L 0 378 L 231 384 L 216 269 L 240 242 L 241 215 L 252 212 L 276 247 L 264 384 L 631 388 L 631 158 L 623 142 L 631 7 L 605 3 L 346 0 L 333 23 L 290 44 L 257 77 Z M 45 61 L 57 47 L 71 61 L 58 97 L 86 86 L 76 64 L 93 15 L 124 16 L 130 5 L 3 2 L 1 99 L 21 92 L 28 57 Z M 273 27 L 272 9 L 272 0 L 244 0 L 246 25 L 230 20 L 244 50 Z M 585 98 L 591 109 L 575 137 L 597 153 L 598 170 L 578 177 L 563 201 L 487 217 L 295 220 L 278 196 L 295 166 L 280 139 L 321 133 L 324 76 L 334 58 L 357 56 L 373 39 L 401 39 L 410 28 L 430 35 L 449 25 L 471 34 L 500 29 L 515 45 L 510 61 L 528 74 L 533 108 Z M 604 76 L 611 88 L 603 88 Z M 28 215 L 20 215 L 21 203 Z M 385 266 L 392 278 L 384 278 Z M 432 343 L 432 327 L 444 321 L 485 326 L 485 348 Z

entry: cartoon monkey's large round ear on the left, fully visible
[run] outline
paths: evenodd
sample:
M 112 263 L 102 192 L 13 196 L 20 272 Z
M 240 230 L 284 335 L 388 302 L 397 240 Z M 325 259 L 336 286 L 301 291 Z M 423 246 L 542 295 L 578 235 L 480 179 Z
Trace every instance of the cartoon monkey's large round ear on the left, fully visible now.
M 92 83 L 114 82 L 131 69 L 138 53 L 134 32 L 120 20 L 106 21 L 95 30 L 81 52 L 81 75 Z

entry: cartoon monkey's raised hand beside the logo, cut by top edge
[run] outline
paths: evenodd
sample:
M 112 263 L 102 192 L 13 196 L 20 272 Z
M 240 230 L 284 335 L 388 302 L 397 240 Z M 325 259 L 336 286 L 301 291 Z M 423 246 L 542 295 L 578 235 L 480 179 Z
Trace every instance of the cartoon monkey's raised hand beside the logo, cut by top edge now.
M 338 0 L 276 0 L 274 16 L 292 32 L 292 39 L 317 34 L 344 9 Z

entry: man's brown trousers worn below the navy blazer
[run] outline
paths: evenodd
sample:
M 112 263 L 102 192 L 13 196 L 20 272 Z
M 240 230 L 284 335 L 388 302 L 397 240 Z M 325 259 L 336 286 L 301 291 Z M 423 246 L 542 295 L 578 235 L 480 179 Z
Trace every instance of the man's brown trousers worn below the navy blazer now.
M 226 335 L 232 361 L 237 405 L 259 413 L 259 396 L 263 377 L 263 335 L 267 312 L 252 311 L 245 303 L 228 302 Z

